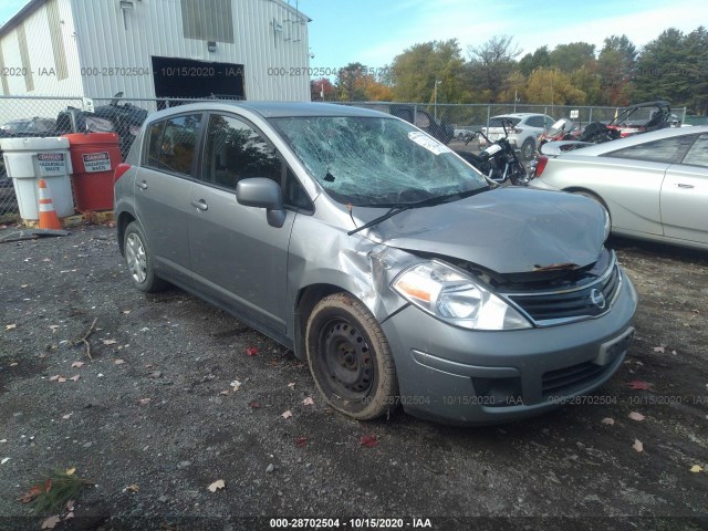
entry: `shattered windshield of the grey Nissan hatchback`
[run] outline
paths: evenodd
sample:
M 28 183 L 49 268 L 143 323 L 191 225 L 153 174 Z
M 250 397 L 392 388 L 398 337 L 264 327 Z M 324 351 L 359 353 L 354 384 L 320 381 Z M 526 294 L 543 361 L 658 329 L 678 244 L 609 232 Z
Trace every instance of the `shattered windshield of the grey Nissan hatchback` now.
M 342 204 L 409 205 L 488 186 L 447 146 L 399 119 L 293 116 L 271 123 Z

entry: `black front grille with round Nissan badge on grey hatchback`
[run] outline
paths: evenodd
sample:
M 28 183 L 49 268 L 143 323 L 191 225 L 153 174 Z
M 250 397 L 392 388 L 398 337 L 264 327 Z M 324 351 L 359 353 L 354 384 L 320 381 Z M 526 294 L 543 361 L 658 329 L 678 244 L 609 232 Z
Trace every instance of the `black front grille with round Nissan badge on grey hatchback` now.
M 614 302 L 621 282 L 620 268 L 613 256 L 605 272 L 584 285 L 542 293 L 512 293 L 507 296 L 538 325 L 549 326 L 606 313 Z

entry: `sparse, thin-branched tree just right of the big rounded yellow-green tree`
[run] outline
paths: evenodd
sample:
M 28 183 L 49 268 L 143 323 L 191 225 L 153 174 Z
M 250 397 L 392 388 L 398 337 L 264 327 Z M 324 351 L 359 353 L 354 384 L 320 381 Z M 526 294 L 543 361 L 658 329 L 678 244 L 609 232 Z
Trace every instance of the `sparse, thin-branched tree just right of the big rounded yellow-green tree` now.
M 488 95 L 491 103 L 499 101 L 501 93 L 507 90 L 507 79 L 516 69 L 516 59 L 521 50 L 513 44 L 509 35 L 492 37 L 480 46 L 468 46 L 470 58 L 468 75 L 471 86 Z

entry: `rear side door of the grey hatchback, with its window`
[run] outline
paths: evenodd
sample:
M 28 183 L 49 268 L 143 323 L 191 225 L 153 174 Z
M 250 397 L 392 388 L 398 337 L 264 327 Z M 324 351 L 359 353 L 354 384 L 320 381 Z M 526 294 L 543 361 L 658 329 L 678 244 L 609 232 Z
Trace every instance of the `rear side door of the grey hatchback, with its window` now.
M 187 216 L 201 121 L 201 114 L 196 113 L 150 124 L 143 164 L 134 180 L 136 214 L 155 264 L 175 280 L 190 277 Z

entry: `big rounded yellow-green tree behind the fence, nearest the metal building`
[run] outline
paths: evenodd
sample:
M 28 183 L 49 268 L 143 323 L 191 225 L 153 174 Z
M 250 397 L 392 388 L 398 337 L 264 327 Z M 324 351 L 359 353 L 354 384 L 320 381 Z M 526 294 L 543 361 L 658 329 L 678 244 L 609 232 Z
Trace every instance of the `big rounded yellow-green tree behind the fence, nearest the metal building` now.
M 457 39 L 414 44 L 394 58 L 393 98 L 398 102 L 431 103 L 436 82 L 440 81 L 437 85 L 438 103 L 467 101 L 464 65 Z

